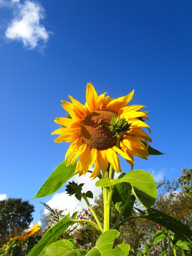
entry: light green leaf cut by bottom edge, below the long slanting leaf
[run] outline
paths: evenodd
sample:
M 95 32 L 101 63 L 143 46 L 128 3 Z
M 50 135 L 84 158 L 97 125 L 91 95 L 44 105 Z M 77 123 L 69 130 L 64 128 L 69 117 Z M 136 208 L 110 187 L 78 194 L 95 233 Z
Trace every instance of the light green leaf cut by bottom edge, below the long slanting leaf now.
M 45 247 L 39 256 L 63 256 L 63 255 L 86 255 L 86 252 L 81 249 L 76 249 L 74 245 L 67 239 L 56 241 Z

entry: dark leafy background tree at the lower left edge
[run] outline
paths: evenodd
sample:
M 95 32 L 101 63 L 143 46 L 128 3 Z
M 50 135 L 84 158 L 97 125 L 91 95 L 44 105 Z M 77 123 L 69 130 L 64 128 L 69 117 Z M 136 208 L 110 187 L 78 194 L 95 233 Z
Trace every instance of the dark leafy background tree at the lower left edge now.
M 29 227 L 33 211 L 34 206 L 28 200 L 9 198 L 0 201 L 0 247 Z

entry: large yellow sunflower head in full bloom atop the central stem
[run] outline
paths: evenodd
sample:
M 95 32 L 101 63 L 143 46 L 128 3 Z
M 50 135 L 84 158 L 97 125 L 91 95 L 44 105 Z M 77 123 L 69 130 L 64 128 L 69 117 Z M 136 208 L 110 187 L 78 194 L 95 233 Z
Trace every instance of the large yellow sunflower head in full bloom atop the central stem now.
M 118 173 L 121 171 L 118 155 L 121 155 L 133 168 L 134 155 L 147 159 L 149 155 L 147 141 L 151 138 L 142 128 L 150 127 L 143 121 L 147 119 L 147 112 L 142 105 L 127 106 L 131 101 L 134 90 L 127 96 L 112 99 L 103 93 L 98 96 L 92 83 L 87 83 L 86 102 L 68 96 L 71 102 L 61 101 L 67 111 L 67 117 L 56 117 L 55 122 L 61 128 L 51 134 L 58 134 L 55 142 L 72 142 L 65 155 L 66 165 L 73 165 L 78 158 L 75 173 L 85 175 L 94 164 L 90 177 L 97 177 L 102 171 L 103 177 L 111 164 Z M 116 121 L 115 121 L 116 120 Z M 126 132 L 121 132 L 121 139 L 117 145 L 116 132 L 112 128 L 117 121 L 128 122 Z M 145 142 L 145 144 L 143 143 Z M 146 146 L 145 146 L 146 145 Z

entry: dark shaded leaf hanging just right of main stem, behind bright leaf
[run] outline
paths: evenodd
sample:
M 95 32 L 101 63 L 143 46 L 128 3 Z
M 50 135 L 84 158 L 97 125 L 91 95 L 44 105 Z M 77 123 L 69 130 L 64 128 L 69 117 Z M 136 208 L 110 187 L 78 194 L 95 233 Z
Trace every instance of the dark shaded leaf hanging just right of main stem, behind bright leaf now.
M 125 174 L 120 175 L 118 178 L 123 177 L 123 175 Z M 125 217 L 131 216 L 135 202 L 135 196 L 131 195 L 131 192 L 132 186 L 129 183 L 122 182 L 116 184 L 112 195 L 113 204 L 119 213 L 123 209 L 123 206 L 127 204 L 126 208 L 123 211 L 123 216 Z

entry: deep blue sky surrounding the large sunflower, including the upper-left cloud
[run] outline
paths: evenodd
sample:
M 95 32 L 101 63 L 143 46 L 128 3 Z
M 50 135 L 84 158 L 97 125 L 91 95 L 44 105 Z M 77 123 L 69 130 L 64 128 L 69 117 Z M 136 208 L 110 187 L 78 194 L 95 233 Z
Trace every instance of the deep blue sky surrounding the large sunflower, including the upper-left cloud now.
M 43 207 L 31 198 L 69 146 L 51 135 L 60 100 L 84 104 L 89 81 L 112 98 L 135 89 L 131 104 L 147 106 L 151 146 L 166 155 L 135 157 L 134 169 L 179 177 L 192 166 L 192 2 L 0 0 L 0 198 L 29 200 L 33 222 Z M 64 190 L 55 202 L 66 206 Z

